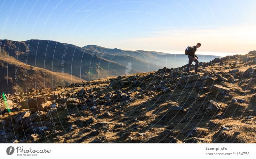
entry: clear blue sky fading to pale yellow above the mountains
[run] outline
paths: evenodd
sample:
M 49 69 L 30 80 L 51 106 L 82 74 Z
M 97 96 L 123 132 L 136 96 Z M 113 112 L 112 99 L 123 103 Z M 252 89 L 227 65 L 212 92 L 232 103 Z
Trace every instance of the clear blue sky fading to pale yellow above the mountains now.
M 0 39 L 226 56 L 256 50 L 255 0 L 0 0 Z

